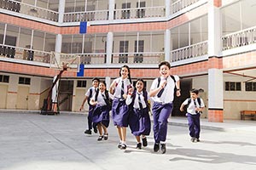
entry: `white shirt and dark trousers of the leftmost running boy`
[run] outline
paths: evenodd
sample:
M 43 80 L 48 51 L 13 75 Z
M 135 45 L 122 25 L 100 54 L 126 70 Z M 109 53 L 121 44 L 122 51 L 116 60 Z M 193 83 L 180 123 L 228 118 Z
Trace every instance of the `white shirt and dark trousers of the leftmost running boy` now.
M 93 113 L 93 108 L 94 106 L 93 105 L 90 105 L 90 99 L 93 95 L 96 94 L 96 91 L 99 90 L 98 88 L 94 88 L 94 87 L 91 87 L 87 90 L 87 92 L 85 93 L 85 96 L 88 97 L 88 105 L 89 105 L 89 111 L 88 111 L 88 116 L 87 116 L 87 120 L 88 120 L 88 129 L 91 130 L 92 127 L 95 127 L 95 125 L 93 125 L 92 123 L 92 113 Z M 91 93 L 91 94 L 90 94 Z

